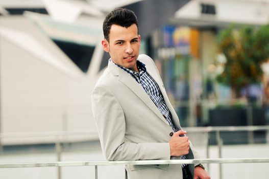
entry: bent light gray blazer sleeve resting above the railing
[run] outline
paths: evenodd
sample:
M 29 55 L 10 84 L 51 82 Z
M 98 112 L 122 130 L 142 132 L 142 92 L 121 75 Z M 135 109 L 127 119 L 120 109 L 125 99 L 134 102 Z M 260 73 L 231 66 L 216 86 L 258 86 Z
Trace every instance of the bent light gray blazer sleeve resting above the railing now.
M 107 86 L 97 85 L 93 90 L 91 102 L 103 155 L 107 160 L 170 159 L 169 143 L 130 143 L 125 141 L 124 111 Z

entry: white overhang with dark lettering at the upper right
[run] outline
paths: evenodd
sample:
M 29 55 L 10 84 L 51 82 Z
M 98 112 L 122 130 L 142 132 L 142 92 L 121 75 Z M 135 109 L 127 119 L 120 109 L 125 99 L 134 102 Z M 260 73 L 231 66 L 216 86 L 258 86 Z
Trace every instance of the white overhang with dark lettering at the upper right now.
M 216 14 L 201 14 L 201 3 L 214 5 Z M 269 0 L 192 0 L 176 12 L 176 19 L 194 26 L 264 25 L 269 22 Z

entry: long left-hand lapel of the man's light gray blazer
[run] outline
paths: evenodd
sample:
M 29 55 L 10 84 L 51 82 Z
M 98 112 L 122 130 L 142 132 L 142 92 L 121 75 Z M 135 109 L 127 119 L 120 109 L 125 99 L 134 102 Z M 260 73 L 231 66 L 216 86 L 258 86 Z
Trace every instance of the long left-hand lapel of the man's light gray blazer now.
M 118 76 L 118 80 L 124 83 L 127 87 L 131 89 L 131 91 L 138 96 L 153 112 L 163 121 L 165 124 L 169 125 L 165 118 L 160 113 L 157 106 L 154 104 L 154 102 L 151 100 L 148 94 L 144 91 L 143 87 L 135 81 L 135 79 L 128 74 L 127 72 L 121 70 L 113 64 L 110 60 L 108 63 L 108 68 L 111 71 L 111 73 L 115 76 Z

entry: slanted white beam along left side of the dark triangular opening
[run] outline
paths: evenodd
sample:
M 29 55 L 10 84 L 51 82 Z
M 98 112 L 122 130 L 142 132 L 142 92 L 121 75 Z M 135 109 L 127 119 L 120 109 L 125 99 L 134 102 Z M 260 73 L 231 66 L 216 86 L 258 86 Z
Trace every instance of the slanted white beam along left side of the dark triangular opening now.
M 42 33 L 34 34 L 0 27 L 0 36 L 16 44 L 17 47 L 33 54 L 38 59 L 50 64 L 53 68 L 58 69 L 72 79 L 81 80 L 84 77 L 84 74 L 77 66 L 63 52 L 59 51 L 47 36 Z

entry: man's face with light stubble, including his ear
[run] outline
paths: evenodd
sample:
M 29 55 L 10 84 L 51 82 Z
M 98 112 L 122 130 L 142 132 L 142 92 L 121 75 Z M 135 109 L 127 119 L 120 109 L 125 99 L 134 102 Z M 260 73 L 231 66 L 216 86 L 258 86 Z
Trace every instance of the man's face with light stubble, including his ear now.
M 136 60 L 139 55 L 140 35 L 135 24 L 128 28 L 112 25 L 109 42 L 104 39 L 102 45 L 114 63 L 138 72 Z

